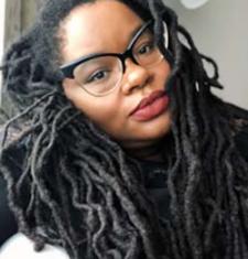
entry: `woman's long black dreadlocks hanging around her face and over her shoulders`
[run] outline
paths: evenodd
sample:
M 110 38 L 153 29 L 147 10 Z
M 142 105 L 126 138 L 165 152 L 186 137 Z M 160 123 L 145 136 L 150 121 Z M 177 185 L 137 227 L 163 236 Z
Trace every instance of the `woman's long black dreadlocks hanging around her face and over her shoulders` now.
M 248 164 L 234 141 L 234 121 L 248 116 L 212 94 L 222 87 L 217 65 L 160 0 L 123 0 L 154 19 L 158 37 L 162 22 L 169 26 L 174 116 L 172 152 L 164 152 L 170 217 L 161 222 L 137 161 L 62 91 L 57 31 L 83 2 L 47 1 L 6 56 L 4 87 L 18 115 L 4 125 L 0 164 L 20 231 L 37 250 L 58 245 L 72 259 L 248 258 Z

